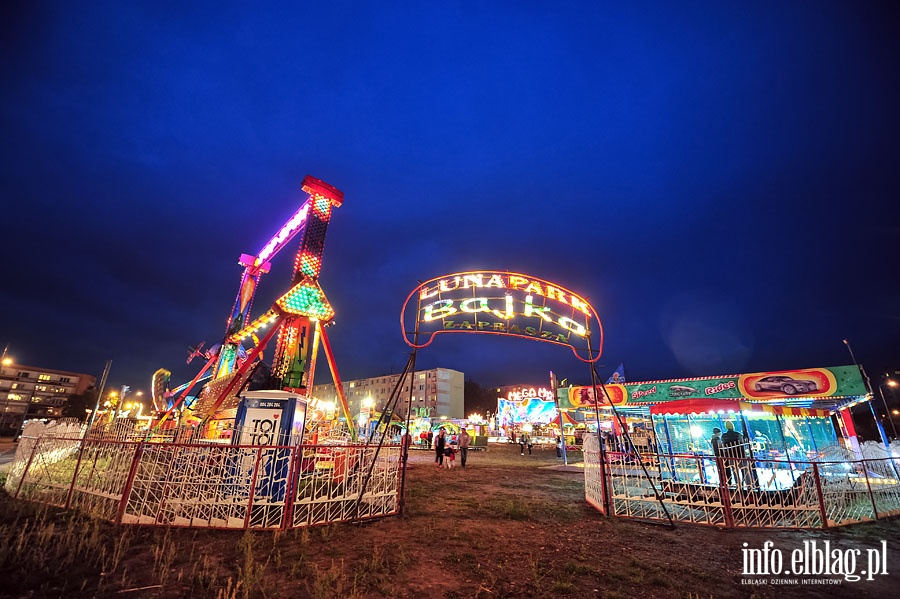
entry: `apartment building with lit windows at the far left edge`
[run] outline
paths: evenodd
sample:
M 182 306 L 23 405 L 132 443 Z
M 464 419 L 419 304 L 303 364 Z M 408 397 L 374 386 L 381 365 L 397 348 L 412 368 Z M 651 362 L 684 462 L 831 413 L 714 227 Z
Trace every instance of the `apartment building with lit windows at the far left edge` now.
M 72 395 L 93 387 L 97 377 L 80 372 L 25 366 L 5 358 L 0 365 L 0 436 L 19 433 L 31 418 L 59 418 Z

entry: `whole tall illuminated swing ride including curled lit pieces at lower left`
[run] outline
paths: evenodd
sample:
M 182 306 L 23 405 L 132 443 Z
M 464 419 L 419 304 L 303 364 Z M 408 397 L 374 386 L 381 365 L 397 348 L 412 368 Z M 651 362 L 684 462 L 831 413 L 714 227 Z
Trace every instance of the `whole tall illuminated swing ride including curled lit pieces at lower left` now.
M 312 399 L 309 393 L 321 343 L 350 435 L 356 437 L 326 333 L 326 327 L 334 320 L 334 309 L 319 285 L 325 233 L 331 213 L 341 206 L 344 194 L 309 175 L 304 178 L 302 189 L 309 198 L 259 253 L 240 256 L 238 263 L 244 267 L 244 272 L 222 343 L 206 350 L 203 349 L 205 342 L 190 348 L 188 363 L 197 357 L 206 360 L 197 375 L 189 383 L 168 390 L 171 373 L 160 369 L 154 374 L 153 403 L 162 414 L 154 431 L 173 427 L 173 416 L 182 414 L 187 408 L 195 422 L 199 420 L 198 428 L 204 436 L 220 436 L 233 424 L 240 403 L 239 394 L 251 380 L 258 388 L 289 391 Z M 266 312 L 251 320 L 250 309 L 260 278 L 271 270 L 271 260 L 298 236 L 300 244 L 290 288 Z M 267 373 L 263 351 L 276 335 L 271 370 Z M 243 345 L 246 340 L 252 341 L 253 346 L 249 349 Z M 188 407 L 191 389 L 203 380 L 208 382 Z M 310 407 L 314 408 L 314 405 Z

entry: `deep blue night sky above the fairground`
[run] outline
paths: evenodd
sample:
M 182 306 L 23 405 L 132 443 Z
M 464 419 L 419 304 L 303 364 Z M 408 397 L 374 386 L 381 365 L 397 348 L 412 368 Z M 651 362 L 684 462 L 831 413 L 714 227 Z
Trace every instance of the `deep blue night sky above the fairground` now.
M 587 296 L 604 376 L 847 364 L 845 338 L 900 368 L 892 3 L 602 4 L 4 4 L 0 342 L 190 378 L 312 174 L 345 193 L 320 279 L 345 379 L 399 371 L 406 295 L 477 268 Z M 588 377 L 476 335 L 419 366 Z

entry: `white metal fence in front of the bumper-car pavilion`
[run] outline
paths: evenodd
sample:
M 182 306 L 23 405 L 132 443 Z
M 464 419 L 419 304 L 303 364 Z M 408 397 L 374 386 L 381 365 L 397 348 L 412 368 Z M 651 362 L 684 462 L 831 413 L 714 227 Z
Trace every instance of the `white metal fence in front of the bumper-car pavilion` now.
M 596 437 L 586 438 L 585 498 L 601 513 L 624 518 L 725 528 L 828 528 L 900 515 L 897 458 L 760 462 L 603 456 Z

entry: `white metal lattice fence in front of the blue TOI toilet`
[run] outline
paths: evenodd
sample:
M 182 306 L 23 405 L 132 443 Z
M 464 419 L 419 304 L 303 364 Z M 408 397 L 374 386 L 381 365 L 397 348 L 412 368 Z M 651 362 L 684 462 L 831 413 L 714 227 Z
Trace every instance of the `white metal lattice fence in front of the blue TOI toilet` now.
M 15 497 L 125 524 L 285 529 L 398 513 L 400 448 L 232 446 L 42 436 Z

